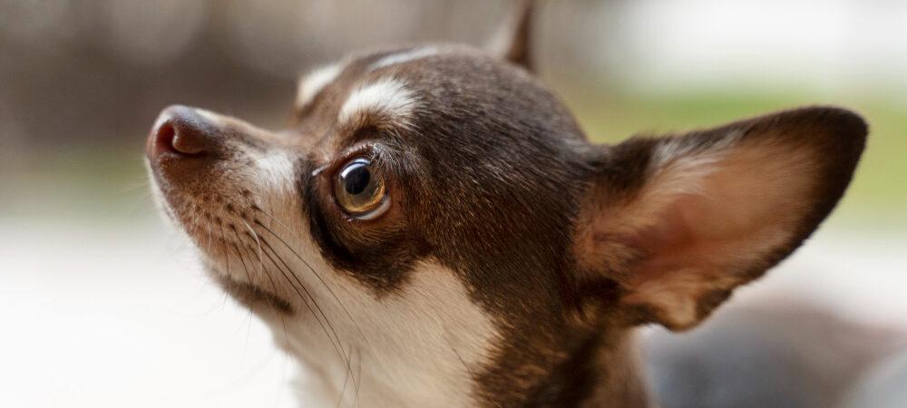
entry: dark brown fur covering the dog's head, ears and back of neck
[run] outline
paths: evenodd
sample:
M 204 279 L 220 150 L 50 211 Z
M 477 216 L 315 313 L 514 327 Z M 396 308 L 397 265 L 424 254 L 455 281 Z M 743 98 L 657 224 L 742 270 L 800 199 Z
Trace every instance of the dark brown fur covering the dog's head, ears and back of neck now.
M 528 44 L 514 44 L 512 61 L 527 63 Z M 400 293 L 417 261 L 453 270 L 500 331 L 493 358 L 473 370 L 487 406 L 646 406 L 633 327 L 696 325 L 789 255 L 833 209 L 863 150 L 862 119 L 823 107 L 592 145 L 522 66 L 440 47 L 375 70 L 406 49 L 350 59 L 297 112 L 288 142 L 188 113 L 173 123 L 218 133 L 228 152 L 276 143 L 293 152 L 299 217 L 337 273 L 375 298 Z M 413 117 L 338 123 L 349 92 L 380 78 L 418 95 Z M 666 159 L 668 145 L 676 155 Z M 151 144 L 149 157 L 165 193 L 191 185 L 221 197 L 229 187 L 215 187 L 201 161 L 167 159 Z M 394 204 L 378 219 L 335 204 L 334 175 L 351 157 L 374 160 L 387 179 Z M 246 209 L 232 199 L 220 206 Z M 290 313 L 273 289 L 243 293 Z

